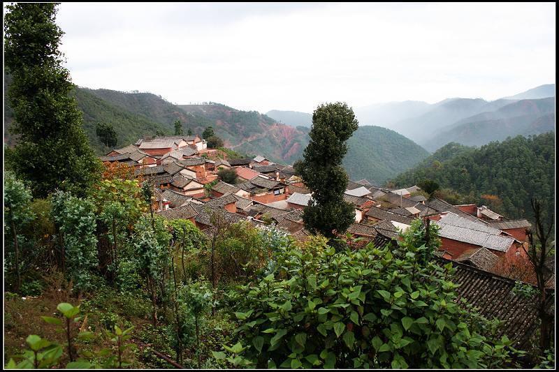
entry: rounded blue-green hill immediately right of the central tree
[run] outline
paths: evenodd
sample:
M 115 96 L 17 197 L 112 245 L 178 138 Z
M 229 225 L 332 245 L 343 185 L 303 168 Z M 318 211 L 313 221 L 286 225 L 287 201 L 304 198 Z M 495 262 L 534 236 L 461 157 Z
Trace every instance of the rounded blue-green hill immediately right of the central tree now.
M 429 156 L 418 144 L 379 126 L 359 126 L 347 147 L 343 165 L 349 177 L 379 186 Z

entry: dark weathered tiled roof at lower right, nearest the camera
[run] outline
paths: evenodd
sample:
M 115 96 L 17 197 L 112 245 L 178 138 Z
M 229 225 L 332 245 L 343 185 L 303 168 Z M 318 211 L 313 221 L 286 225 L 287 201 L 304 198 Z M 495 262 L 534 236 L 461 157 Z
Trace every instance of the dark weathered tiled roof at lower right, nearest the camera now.
M 523 348 L 530 341 L 539 324 L 537 310 L 533 306 L 537 301 L 536 297 L 526 298 L 521 294 L 515 294 L 513 288 L 516 282 L 509 278 L 444 258 L 435 260 L 441 262 L 441 265 L 451 262 L 456 269 L 451 280 L 459 284 L 456 292 L 460 306 L 460 299 L 463 298 L 477 307 L 485 318 L 504 321 L 502 327 L 497 330 L 496 338 L 506 334 L 514 341 L 515 348 Z M 553 290 L 549 290 L 549 293 L 552 294 Z M 547 298 L 546 311 L 553 313 L 554 296 L 549 295 Z

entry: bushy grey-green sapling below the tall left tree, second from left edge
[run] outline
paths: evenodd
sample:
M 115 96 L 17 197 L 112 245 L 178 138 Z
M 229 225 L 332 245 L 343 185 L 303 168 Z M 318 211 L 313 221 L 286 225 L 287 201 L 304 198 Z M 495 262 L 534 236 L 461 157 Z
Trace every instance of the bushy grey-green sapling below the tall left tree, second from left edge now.
M 52 196 L 52 218 L 64 239 L 64 267 L 80 291 L 92 289 L 91 271 L 99 266 L 95 212 L 91 200 L 64 191 Z

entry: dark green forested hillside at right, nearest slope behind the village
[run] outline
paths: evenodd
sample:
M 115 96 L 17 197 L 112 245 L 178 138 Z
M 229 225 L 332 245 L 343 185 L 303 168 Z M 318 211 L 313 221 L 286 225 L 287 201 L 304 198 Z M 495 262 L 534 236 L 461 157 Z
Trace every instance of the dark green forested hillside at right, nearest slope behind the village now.
M 518 135 L 479 149 L 451 142 L 393 181 L 407 187 L 431 179 L 507 218 L 532 218 L 530 198 L 537 197 L 549 218 L 555 209 L 554 177 L 555 135 L 544 133 Z M 498 200 L 490 205 L 491 198 L 482 195 L 496 195 Z

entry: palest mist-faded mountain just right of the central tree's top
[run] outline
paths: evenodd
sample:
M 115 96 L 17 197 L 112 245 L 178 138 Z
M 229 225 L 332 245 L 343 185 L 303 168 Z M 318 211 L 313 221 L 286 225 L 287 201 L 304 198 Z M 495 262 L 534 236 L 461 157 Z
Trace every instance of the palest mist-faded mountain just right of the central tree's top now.
M 425 114 L 431 108 L 426 102 L 404 101 L 357 107 L 354 112 L 361 126 L 391 128 L 396 122 Z

